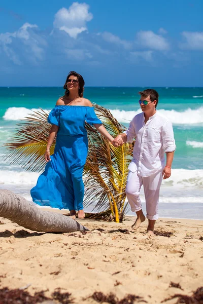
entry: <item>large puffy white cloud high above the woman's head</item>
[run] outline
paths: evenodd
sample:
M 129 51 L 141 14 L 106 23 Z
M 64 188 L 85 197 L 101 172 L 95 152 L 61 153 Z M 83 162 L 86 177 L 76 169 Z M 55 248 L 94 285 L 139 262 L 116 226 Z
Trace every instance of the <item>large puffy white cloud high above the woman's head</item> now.
M 69 9 L 62 8 L 55 14 L 53 24 L 76 39 L 79 33 L 87 30 L 86 23 L 92 18 L 86 3 L 74 2 Z

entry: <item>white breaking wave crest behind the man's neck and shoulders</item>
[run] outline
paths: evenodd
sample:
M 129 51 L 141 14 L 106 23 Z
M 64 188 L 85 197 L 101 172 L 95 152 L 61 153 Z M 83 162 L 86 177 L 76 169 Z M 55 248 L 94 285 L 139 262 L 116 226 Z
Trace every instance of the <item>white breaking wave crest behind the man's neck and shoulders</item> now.
M 141 110 L 137 111 L 124 111 L 124 110 L 111 110 L 113 116 L 120 123 L 127 123 L 134 116 L 139 114 Z M 192 124 L 202 124 L 203 123 L 203 107 L 199 107 L 198 109 L 192 110 L 191 108 L 187 108 L 185 111 L 178 112 L 175 110 L 157 110 L 160 115 L 167 117 L 170 121 L 175 125 L 192 125 Z

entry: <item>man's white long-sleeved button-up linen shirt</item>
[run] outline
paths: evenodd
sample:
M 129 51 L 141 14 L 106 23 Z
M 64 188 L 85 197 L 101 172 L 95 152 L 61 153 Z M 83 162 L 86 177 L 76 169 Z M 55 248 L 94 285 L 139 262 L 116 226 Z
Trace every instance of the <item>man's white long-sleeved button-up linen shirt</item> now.
M 133 148 L 133 159 L 129 170 L 138 171 L 140 176 L 150 176 L 162 170 L 165 166 L 164 153 L 176 149 L 172 123 L 156 113 L 145 124 L 144 112 L 136 115 L 124 131 L 126 142 L 132 142 L 136 137 Z

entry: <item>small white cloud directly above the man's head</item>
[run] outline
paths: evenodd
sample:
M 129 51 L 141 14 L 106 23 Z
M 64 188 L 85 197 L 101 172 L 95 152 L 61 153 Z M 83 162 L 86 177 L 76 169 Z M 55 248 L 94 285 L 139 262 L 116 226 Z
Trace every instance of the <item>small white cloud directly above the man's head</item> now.
M 151 30 L 138 32 L 136 43 L 137 45 L 157 51 L 166 51 L 169 49 L 169 44 L 166 39 Z

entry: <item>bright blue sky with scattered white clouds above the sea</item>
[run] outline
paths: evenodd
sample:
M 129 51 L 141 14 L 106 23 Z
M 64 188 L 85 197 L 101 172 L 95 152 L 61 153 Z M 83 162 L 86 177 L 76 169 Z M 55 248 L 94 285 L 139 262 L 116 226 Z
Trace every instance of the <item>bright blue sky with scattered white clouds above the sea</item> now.
M 203 2 L 2 0 L 0 86 L 202 86 Z

